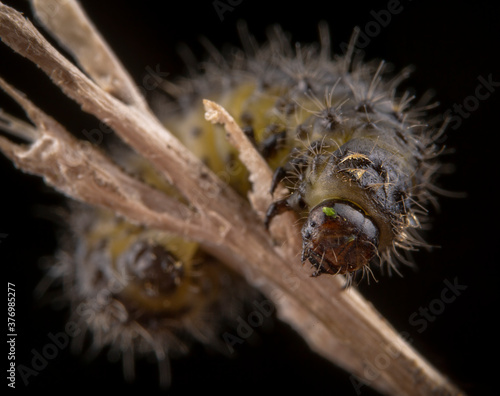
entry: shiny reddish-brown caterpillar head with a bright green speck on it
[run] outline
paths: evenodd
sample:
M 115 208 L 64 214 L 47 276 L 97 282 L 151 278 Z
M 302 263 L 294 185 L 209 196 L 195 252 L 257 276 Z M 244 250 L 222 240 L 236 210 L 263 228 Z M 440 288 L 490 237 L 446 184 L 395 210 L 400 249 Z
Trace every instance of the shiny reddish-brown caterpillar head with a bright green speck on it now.
M 379 230 L 348 201 L 326 200 L 315 206 L 302 227 L 302 262 L 321 273 L 348 274 L 368 266 L 377 255 Z

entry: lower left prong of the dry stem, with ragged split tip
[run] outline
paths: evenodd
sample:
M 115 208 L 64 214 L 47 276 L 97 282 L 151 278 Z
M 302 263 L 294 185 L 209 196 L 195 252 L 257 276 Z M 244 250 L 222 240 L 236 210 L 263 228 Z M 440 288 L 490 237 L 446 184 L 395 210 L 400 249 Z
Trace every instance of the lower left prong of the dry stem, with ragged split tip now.
M 125 174 L 97 148 L 72 137 L 1 78 L 0 88 L 36 125 L 0 112 L 0 128 L 29 141 L 27 145 L 14 144 L 0 136 L 0 150 L 19 168 L 44 177 L 47 184 L 67 196 L 113 210 L 131 222 L 182 236 L 198 235 L 203 230 L 188 207 Z

